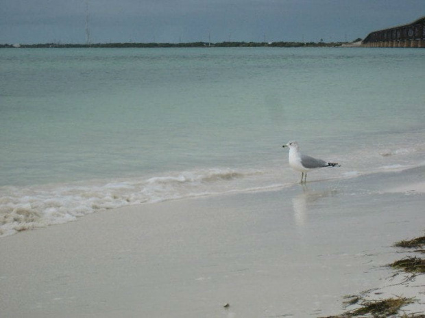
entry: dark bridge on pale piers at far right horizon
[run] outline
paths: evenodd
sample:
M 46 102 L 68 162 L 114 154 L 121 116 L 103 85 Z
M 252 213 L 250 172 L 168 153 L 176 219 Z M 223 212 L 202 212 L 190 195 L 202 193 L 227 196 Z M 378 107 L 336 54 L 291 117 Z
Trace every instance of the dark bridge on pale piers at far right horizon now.
M 425 16 L 408 25 L 373 31 L 362 47 L 425 47 Z

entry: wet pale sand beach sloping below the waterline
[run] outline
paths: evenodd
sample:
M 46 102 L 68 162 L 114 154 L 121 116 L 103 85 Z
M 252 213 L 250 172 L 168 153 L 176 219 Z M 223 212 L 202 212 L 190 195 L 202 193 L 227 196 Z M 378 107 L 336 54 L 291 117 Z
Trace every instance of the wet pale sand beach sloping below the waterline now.
M 142 204 L 3 237 L 1 317 L 340 314 L 344 295 L 393 284 L 385 265 L 404 255 L 393 243 L 423 234 L 424 171 Z M 423 295 L 405 309 L 424 312 Z

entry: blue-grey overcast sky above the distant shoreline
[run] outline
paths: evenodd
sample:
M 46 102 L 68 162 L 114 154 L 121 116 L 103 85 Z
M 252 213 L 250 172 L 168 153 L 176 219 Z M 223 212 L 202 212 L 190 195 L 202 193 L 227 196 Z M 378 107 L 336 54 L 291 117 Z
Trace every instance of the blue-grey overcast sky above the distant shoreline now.
M 425 0 L 0 0 L 0 44 L 85 43 L 87 16 L 93 43 L 332 42 L 411 23 Z

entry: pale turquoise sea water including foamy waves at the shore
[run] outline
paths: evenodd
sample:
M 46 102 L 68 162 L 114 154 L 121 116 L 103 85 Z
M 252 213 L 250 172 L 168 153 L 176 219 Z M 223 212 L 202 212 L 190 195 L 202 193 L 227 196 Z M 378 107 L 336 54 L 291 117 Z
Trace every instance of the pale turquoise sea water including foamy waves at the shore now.
M 129 204 L 425 164 L 425 51 L 0 50 L 0 236 Z M 142 210 L 143 211 L 143 210 Z

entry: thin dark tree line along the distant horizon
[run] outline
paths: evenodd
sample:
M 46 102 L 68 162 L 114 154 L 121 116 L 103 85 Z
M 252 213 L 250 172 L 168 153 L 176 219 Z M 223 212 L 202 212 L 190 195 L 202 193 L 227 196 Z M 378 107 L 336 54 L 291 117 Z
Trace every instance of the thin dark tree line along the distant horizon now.
M 95 43 L 95 44 L 0 44 L 0 48 L 167 48 L 167 47 L 339 47 L 346 42 L 190 42 L 190 43 Z

